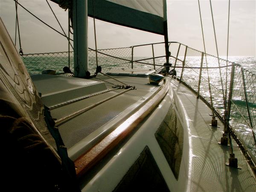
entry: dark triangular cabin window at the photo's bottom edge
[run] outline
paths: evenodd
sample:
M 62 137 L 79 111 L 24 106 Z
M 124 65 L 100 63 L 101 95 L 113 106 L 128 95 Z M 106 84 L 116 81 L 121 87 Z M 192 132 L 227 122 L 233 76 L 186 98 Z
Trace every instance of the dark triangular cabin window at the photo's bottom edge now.
M 113 192 L 169 192 L 148 146 L 118 183 Z

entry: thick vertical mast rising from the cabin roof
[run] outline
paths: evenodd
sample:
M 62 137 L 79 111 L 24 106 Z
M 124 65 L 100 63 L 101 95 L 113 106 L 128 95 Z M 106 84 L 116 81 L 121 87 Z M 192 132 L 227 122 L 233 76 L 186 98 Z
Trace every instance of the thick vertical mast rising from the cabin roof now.
M 87 27 L 87 0 L 73 0 L 75 77 L 85 77 L 88 71 Z

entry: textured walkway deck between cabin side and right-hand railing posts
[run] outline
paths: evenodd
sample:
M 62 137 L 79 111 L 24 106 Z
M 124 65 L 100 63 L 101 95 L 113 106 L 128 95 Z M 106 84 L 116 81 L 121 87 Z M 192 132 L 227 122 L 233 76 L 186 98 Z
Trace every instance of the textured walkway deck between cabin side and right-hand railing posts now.
M 211 110 L 200 99 L 195 98 L 183 84 L 172 80 L 177 99 L 187 116 L 192 136 L 193 171 L 191 191 L 196 192 L 254 192 L 256 179 L 245 158 L 233 140 L 235 157 L 242 169 L 226 166 L 229 162 L 230 147 L 218 144 L 221 140 L 223 124 L 218 119 L 220 128 L 212 127 Z M 176 105 L 180 105 L 176 103 Z

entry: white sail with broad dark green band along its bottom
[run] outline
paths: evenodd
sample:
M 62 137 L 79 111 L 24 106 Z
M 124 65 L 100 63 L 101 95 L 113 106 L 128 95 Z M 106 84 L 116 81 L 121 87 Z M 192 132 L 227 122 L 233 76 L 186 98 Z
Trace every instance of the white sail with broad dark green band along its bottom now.
M 164 35 L 165 0 L 88 0 L 88 15 Z

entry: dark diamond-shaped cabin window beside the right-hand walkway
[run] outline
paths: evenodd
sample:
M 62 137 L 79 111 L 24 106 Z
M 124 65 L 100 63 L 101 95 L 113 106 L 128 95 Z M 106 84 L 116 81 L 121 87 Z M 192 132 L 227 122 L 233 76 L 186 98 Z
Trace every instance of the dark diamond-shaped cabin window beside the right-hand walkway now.
M 157 129 L 155 137 L 176 180 L 178 180 L 183 150 L 183 128 L 172 106 Z

